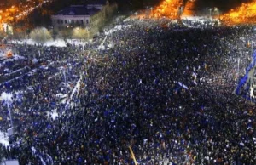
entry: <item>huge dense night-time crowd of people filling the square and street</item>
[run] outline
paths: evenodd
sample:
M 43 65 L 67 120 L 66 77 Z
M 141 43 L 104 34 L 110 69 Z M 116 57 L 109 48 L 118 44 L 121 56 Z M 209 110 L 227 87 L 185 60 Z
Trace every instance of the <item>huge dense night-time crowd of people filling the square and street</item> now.
M 234 92 L 253 27 L 121 26 L 83 47 L 42 48 L 35 69 L 2 84 L 15 135 L 0 162 L 134 164 L 131 146 L 140 164 L 255 164 L 256 109 Z M 112 48 L 97 49 L 102 40 Z M 6 132 L 7 106 L 0 116 Z

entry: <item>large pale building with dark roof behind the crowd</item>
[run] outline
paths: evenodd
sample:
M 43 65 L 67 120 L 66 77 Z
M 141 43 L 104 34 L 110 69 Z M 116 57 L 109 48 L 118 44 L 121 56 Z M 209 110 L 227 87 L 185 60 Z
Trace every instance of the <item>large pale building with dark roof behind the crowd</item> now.
M 101 26 L 117 8 L 117 3 L 109 3 L 107 0 L 92 1 L 87 5 L 71 5 L 52 15 L 52 25 L 57 30 L 75 26 L 96 28 Z

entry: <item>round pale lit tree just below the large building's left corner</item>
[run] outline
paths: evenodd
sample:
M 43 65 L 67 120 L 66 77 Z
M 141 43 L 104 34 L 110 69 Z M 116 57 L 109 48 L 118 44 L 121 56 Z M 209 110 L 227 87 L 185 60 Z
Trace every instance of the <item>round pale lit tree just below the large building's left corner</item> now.
M 52 38 L 49 31 L 45 27 L 37 27 L 30 32 L 29 36 L 32 38 L 32 40 L 40 44 L 43 44 Z

